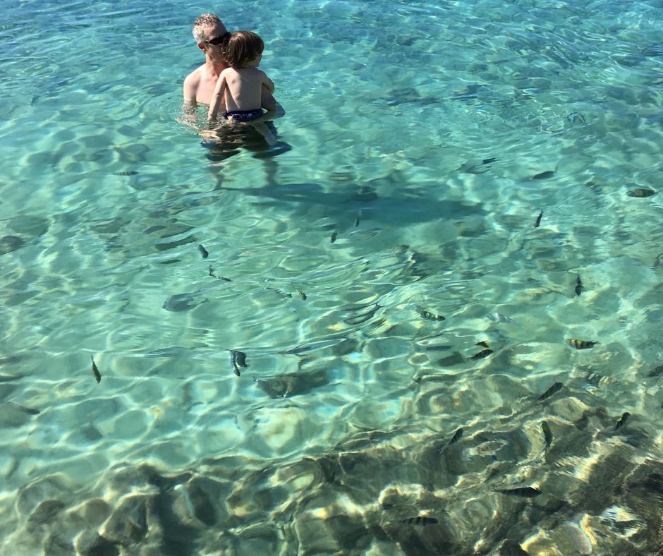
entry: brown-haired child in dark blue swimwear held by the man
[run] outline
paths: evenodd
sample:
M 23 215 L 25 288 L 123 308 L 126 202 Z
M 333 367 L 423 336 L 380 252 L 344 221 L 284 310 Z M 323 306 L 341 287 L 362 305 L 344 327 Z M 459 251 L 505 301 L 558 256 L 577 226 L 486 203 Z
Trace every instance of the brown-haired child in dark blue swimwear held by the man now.
M 269 146 L 273 146 L 276 137 L 272 131 L 264 122 L 256 121 L 262 116 L 263 108 L 273 110 L 276 107 L 274 82 L 258 69 L 263 49 L 262 39 L 254 32 L 236 31 L 231 34 L 222 54 L 230 67 L 219 75 L 207 116 L 213 123 L 221 107 L 225 107 L 221 116 L 228 123 L 249 123 Z

